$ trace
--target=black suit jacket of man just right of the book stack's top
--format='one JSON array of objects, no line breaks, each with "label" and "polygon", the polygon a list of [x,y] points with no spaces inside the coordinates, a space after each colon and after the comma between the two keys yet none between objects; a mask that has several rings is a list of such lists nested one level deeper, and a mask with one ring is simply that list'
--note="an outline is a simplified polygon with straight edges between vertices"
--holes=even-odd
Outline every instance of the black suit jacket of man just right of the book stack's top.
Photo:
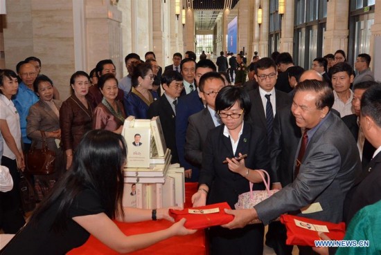
[{"label": "black suit jacket of man just right of the book stack's top", "polygon": [[172,106],[167,100],[166,95],[161,95],[159,99],[153,102],[148,108],[148,118],[152,119],[154,116],[160,117],[161,127],[163,128],[164,139],[166,145],[172,154],[172,164],[179,162],[177,155],[176,138],[175,138],[175,122],[176,115],[172,110]]}]

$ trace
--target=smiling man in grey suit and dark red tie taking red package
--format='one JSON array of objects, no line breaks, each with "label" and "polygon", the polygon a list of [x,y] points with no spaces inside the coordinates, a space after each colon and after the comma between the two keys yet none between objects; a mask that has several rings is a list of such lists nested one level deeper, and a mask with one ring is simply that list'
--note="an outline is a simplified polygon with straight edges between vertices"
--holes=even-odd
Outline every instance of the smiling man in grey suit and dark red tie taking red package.
[{"label": "smiling man in grey suit and dark red tie taking red package", "polygon": [[[225,227],[242,227],[256,218],[266,225],[286,212],[342,221],[343,201],[361,163],[355,141],[348,140],[348,128],[330,112],[333,102],[333,92],[324,82],[305,80],[296,86],[292,114],[304,132],[295,155],[294,181],[253,209],[228,210],[235,218]],[[299,251],[312,252],[310,247],[299,247]]]}]

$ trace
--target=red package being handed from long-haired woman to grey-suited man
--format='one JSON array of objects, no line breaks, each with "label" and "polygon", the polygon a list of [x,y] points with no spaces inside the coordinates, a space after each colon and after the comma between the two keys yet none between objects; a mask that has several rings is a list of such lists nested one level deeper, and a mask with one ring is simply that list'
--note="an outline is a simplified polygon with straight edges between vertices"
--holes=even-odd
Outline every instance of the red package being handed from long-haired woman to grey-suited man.
[{"label": "red package being handed from long-haired woman to grey-suited man", "polygon": [[181,220],[181,218],[186,218],[184,226],[187,229],[205,229],[206,227],[224,225],[233,220],[234,216],[226,214],[224,209],[231,209],[227,202],[183,210],[170,209],[169,215],[176,222]]}]

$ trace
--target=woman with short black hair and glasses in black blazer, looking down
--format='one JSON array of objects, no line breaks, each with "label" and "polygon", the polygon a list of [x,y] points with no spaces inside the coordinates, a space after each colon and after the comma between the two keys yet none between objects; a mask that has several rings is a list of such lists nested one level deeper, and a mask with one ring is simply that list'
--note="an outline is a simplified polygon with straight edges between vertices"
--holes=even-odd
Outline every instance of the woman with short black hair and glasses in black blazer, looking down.
[{"label": "woman with short black hair and glasses in black blazer, looking down", "polygon": [[[254,169],[269,169],[265,130],[247,122],[251,102],[244,88],[226,86],[215,98],[215,111],[222,125],[209,131],[202,151],[199,189],[193,194],[193,206],[228,202],[231,208],[238,195],[265,189],[262,178]],[[236,160],[240,155],[247,158]],[[224,164],[224,160],[227,163]],[[242,229],[211,227],[211,254],[263,254],[263,224]]]}]

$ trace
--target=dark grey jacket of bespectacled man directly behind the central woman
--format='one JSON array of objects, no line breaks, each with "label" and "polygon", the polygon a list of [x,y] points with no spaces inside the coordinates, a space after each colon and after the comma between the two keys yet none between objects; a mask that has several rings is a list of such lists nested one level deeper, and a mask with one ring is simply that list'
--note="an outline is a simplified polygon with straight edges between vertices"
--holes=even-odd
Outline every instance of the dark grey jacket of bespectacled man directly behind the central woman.
[{"label": "dark grey jacket of bespectacled man directly behind the central woman", "polygon": [[200,168],[202,163],[202,150],[209,130],[215,125],[209,109],[190,115],[188,129],[186,129],[185,159],[193,166]]}]

